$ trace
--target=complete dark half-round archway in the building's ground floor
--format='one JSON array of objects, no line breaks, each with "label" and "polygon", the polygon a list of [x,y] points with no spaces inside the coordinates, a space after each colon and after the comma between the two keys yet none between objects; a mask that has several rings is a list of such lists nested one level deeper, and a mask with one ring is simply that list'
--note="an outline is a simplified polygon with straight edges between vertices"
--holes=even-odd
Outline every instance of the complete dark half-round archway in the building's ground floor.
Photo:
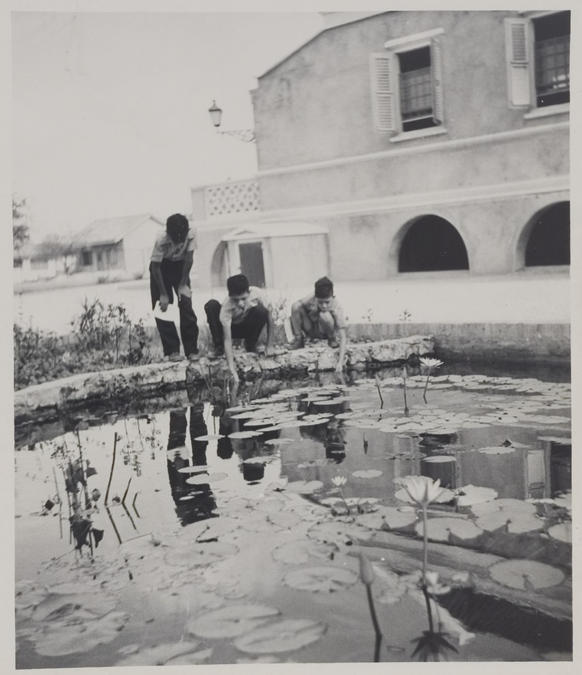
[{"label": "complete dark half-round archway in the building's ground floor", "polygon": [[469,269],[463,238],[439,216],[421,216],[404,235],[398,254],[399,272],[435,272]]}]

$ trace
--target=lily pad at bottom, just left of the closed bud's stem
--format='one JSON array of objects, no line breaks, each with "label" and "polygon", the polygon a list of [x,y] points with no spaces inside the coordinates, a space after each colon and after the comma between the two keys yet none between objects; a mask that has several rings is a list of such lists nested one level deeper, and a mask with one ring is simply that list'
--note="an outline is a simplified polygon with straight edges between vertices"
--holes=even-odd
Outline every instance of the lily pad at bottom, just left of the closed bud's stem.
[{"label": "lily pad at bottom, just left of the closed bud's stem", "polygon": [[310,619],[283,619],[241,635],[234,646],[248,654],[290,652],[317,641],[326,630],[325,624]]}]

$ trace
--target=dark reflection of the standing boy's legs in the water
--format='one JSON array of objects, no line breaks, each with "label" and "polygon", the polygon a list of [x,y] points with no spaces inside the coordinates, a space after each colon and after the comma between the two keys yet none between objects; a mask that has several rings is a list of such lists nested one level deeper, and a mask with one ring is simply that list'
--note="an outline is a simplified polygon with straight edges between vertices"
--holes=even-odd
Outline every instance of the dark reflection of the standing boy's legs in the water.
[{"label": "dark reflection of the standing boy's legs in the water", "polygon": [[[190,445],[186,447],[188,429],[188,408],[170,411],[170,432],[168,434],[168,479],[175,504],[176,515],[183,526],[212,516],[216,508],[210,484],[190,484],[188,478],[207,472],[207,441],[195,441],[207,434],[203,416],[203,404],[190,407]],[[187,467],[201,467],[200,472],[181,471]]]}]

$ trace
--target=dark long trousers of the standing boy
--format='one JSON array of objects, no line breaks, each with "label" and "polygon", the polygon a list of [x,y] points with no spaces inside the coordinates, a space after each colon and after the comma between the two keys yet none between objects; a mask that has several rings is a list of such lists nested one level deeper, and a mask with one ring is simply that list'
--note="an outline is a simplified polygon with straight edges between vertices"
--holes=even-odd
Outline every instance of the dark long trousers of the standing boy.
[{"label": "dark long trousers of the standing boy", "polygon": [[[166,293],[170,302],[173,302],[174,293],[178,296],[178,288],[182,278],[182,271],[184,270],[183,260],[162,260],[160,265],[162,271],[162,279],[166,287]],[[188,280],[188,287],[190,287],[190,280]],[[160,289],[151,273],[151,265],[149,266],[149,289],[151,293],[151,308],[155,307],[155,303],[160,299]],[[194,310],[192,309],[192,298],[182,295],[178,299],[178,309],[180,312],[180,335],[182,345],[184,345],[184,354],[198,354],[198,321]],[[180,340],[173,321],[164,321],[163,319],[155,319],[157,332],[160,333],[162,339],[162,348],[164,355],[174,354],[180,351]]]}]

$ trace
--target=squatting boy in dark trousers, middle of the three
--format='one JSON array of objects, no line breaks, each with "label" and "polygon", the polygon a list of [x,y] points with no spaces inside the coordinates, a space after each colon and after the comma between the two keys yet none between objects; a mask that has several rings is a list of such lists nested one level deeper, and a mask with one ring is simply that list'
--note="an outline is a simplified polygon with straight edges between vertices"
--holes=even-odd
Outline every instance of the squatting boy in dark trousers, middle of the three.
[{"label": "squatting boy in dark trousers, middle of the three", "polygon": [[273,354],[275,323],[264,293],[256,286],[249,286],[249,280],[244,274],[229,277],[227,289],[229,294],[222,305],[213,299],[204,306],[214,343],[214,349],[208,356],[216,358],[226,354],[232,379],[238,382],[232,351],[233,338],[244,338],[246,351],[256,352],[257,340],[266,325],[266,354],[270,356]]}]

